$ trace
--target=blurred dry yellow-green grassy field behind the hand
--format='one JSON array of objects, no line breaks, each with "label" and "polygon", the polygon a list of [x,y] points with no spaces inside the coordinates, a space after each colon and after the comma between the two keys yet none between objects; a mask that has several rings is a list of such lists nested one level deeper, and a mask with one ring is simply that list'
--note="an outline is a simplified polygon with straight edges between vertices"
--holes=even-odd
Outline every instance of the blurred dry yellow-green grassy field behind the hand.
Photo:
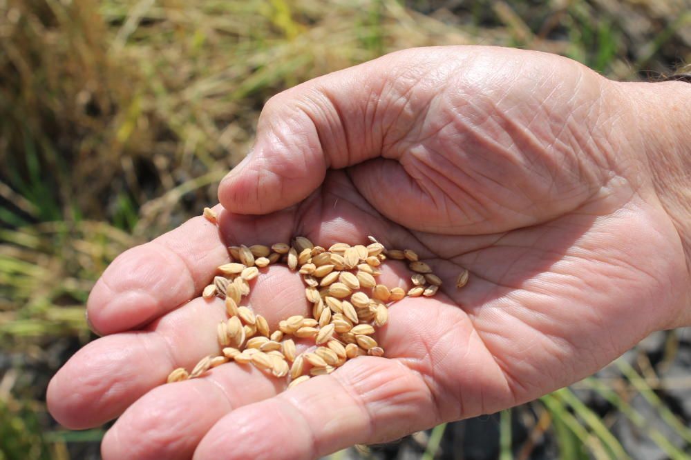
[{"label": "blurred dry yellow-green grassy field behind the hand", "polygon": [[[689,0],[0,0],[0,459],[97,459],[46,412],[117,254],[216,203],[263,103],[412,46],[555,52],[612,79],[691,62]],[[333,459],[688,459],[691,331],[501,414]]]}]

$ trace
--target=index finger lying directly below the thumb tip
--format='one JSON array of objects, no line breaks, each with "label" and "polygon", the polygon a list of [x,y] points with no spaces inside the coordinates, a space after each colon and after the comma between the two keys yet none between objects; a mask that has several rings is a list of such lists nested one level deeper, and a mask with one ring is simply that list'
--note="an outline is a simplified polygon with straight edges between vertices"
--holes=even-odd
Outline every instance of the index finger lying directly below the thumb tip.
[{"label": "index finger lying directly below the thumb tip", "polygon": [[194,217],[120,254],[89,295],[88,319],[100,334],[143,326],[195,297],[227,260],[218,228]]}]

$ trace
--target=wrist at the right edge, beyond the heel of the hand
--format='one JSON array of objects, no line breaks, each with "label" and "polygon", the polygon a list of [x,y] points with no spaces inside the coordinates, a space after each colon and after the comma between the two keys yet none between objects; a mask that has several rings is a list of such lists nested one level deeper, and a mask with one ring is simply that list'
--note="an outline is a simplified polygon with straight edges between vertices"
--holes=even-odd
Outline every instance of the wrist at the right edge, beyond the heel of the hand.
[{"label": "wrist at the right edge, beyond the heel of the hand", "polygon": [[634,101],[632,114],[642,147],[641,162],[679,235],[685,259],[685,305],[671,326],[691,326],[691,83],[623,83]]}]

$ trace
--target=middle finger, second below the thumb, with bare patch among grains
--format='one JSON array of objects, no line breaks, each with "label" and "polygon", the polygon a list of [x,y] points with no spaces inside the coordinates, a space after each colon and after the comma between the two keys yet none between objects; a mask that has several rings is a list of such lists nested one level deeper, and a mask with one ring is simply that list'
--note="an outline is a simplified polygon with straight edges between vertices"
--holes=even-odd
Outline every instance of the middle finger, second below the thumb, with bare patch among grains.
[{"label": "middle finger, second below the thumb, with bare patch among grains", "polygon": [[[292,314],[305,314],[304,287],[285,267],[253,281],[247,305],[265,315],[272,330]],[[276,292],[285,297],[276,301]],[[175,368],[190,370],[202,357],[219,354],[216,326],[225,306],[195,299],[153,323],[149,330],[102,337],[79,350],[48,386],[48,407],[68,428],[100,425],[120,415]]]}]

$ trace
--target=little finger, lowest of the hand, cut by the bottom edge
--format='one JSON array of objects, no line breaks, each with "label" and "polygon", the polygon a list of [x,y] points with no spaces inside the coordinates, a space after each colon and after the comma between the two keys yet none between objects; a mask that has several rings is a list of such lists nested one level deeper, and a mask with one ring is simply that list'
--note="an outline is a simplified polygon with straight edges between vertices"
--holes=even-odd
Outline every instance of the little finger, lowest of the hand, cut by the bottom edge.
[{"label": "little finger, lowest of the hand, cut by the bottom edge", "polygon": [[396,360],[360,357],[214,425],[195,459],[316,459],[354,443],[437,423],[422,377]]}]

